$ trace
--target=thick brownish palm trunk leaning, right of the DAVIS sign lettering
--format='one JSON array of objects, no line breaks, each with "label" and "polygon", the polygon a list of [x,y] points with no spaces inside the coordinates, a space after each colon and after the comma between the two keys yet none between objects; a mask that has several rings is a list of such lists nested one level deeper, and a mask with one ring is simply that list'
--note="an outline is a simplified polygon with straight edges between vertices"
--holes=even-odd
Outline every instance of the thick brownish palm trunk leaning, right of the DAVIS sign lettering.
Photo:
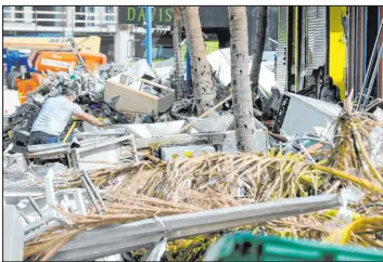
[{"label": "thick brownish palm trunk leaning, right of the DAVIS sign lettering", "polygon": [[189,42],[189,55],[193,81],[194,100],[201,115],[214,106],[216,91],[213,87],[210,66],[206,58],[202,36],[199,6],[182,6],[183,24]]}]

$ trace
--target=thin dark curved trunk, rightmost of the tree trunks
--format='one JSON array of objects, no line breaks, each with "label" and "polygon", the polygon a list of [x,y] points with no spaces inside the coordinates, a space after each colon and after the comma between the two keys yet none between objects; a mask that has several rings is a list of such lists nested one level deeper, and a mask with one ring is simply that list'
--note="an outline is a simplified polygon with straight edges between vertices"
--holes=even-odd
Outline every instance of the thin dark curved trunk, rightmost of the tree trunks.
[{"label": "thin dark curved trunk, rightmost of the tree trunks", "polygon": [[258,92],[260,63],[265,49],[266,27],[267,27],[267,6],[257,6],[255,21],[255,40],[253,52],[253,64],[251,71],[253,95]]}]

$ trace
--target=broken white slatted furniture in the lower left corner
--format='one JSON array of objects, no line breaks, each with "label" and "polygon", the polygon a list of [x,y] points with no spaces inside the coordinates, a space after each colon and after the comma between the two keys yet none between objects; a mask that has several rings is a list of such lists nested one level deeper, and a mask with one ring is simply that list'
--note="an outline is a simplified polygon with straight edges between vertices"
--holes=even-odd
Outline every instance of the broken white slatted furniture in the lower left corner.
[{"label": "broken white slatted furniture in the lower left corner", "polygon": [[[25,241],[50,226],[63,223],[55,207],[77,214],[87,213],[86,206],[91,202],[84,191],[69,188],[55,192],[53,183],[53,171],[50,169],[43,179],[43,186],[38,186],[38,191],[30,181],[11,185],[12,189],[21,189],[16,184],[25,185],[24,191],[18,192],[20,199],[14,204],[12,201],[15,199],[10,198],[12,197],[10,191],[4,192],[4,225],[7,225],[4,234],[9,236],[9,240],[4,244],[8,247],[7,251],[10,252],[7,253],[7,258],[9,256],[13,258],[9,259],[10,261],[23,260]],[[10,217],[11,220],[8,220]]]}]

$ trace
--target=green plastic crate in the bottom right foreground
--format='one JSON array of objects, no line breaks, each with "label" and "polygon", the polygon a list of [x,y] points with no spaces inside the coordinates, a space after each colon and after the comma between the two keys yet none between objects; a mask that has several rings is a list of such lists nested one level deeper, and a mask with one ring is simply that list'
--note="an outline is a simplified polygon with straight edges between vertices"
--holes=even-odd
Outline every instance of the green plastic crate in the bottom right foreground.
[{"label": "green plastic crate in the bottom right foreground", "polygon": [[354,246],[324,245],[251,232],[228,234],[218,239],[205,261],[383,261],[383,250]]}]

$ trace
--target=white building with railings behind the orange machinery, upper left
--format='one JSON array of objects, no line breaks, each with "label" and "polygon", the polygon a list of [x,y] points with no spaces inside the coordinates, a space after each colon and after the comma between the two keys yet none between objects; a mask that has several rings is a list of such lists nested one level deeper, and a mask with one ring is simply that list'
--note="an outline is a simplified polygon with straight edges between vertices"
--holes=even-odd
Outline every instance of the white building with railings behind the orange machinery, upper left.
[{"label": "white building with railings behind the orange machinery, upper left", "polygon": [[3,6],[3,36],[100,36],[101,52],[114,60],[117,6]]}]

